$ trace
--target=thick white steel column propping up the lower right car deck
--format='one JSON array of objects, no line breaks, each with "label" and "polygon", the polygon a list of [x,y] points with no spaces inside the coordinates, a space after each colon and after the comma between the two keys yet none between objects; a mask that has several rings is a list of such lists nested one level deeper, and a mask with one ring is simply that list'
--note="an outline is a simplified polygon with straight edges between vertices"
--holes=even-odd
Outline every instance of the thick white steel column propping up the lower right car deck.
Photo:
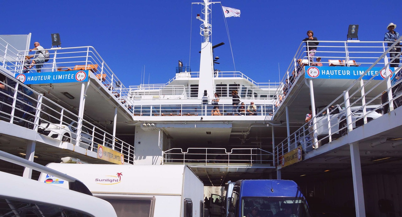
[{"label": "thick white steel column propping up the lower right car deck", "polygon": [[363,180],[361,177],[361,164],[359,154],[359,144],[349,144],[351,151],[353,192],[355,195],[356,217],[365,217]]}]

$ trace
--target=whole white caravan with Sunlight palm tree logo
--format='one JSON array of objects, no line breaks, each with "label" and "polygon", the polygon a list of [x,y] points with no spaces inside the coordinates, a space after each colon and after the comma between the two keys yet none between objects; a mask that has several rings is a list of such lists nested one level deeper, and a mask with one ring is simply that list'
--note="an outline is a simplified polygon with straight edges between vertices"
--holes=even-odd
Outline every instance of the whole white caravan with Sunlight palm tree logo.
[{"label": "whole white caravan with Sunlight palm tree logo", "polygon": [[[118,217],[203,217],[204,185],[187,165],[61,164],[47,167],[82,181]],[[54,177],[42,173],[41,182]]]}]

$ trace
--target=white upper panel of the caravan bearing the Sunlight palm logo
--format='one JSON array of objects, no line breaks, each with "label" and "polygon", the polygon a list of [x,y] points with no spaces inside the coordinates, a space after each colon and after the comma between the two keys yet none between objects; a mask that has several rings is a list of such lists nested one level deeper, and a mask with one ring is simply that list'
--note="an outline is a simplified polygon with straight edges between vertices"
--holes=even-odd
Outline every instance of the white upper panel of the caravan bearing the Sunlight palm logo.
[{"label": "white upper panel of the caravan bearing the Sunlight palm logo", "polygon": [[[50,163],[47,167],[80,177],[92,193],[181,195],[185,171],[192,172],[185,170],[187,165]],[[40,179],[45,181],[45,176]]]}]

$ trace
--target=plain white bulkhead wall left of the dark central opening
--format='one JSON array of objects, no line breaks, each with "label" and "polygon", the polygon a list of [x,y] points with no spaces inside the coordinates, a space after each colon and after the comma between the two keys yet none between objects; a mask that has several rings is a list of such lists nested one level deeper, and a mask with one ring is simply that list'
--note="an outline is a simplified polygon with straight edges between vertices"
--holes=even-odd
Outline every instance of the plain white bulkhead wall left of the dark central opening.
[{"label": "plain white bulkhead wall left of the dark central opening", "polygon": [[135,164],[160,165],[162,164],[162,147],[166,137],[162,130],[143,130],[135,127]]}]

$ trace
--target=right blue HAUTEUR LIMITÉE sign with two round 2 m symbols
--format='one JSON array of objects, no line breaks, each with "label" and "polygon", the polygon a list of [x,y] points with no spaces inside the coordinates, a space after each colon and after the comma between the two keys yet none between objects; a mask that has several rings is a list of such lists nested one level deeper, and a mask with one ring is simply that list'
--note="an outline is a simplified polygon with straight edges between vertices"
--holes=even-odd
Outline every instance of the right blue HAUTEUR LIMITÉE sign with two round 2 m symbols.
[{"label": "right blue HAUTEUR LIMIT\u00c9E sign with two round 2 m symbols", "polygon": [[[358,79],[369,67],[347,67],[347,66],[305,66],[304,76],[306,78],[320,78],[320,79]],[[373,67],[370,71],[367,71],[363,80],[369,80],[381,67]],[[388,75],[392,73],[392,69],[383,69],[378,73],[373,80],[385,79]]]}]

